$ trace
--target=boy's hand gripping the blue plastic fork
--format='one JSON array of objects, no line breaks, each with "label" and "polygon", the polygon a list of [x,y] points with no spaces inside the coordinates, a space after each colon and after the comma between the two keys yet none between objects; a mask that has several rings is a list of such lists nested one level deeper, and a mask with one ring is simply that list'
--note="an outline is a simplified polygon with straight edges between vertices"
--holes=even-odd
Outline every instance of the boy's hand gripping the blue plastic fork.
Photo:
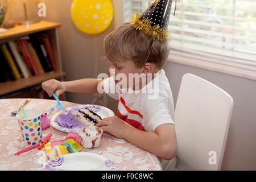
[{"label": "boy's hand gripping the blue plastic fork", "polygon": [[64,82],[51,79],[42,83],[42,88],[46,90],[49,97],[52,97],[52,93],[55,92],[56,96],[59,97],[67,89]]}]

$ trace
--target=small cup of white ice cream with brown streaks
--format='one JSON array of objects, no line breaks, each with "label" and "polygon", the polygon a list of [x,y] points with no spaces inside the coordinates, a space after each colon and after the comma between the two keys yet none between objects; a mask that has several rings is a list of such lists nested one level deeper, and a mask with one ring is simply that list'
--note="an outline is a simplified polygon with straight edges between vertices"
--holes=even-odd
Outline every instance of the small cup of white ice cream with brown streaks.
[{"label": "small cup of white ice cream with brown streaks", "polygon": [[100,146],[103,130],[97,126],[87,126],[78,131],[85,148],[96,148]]}]

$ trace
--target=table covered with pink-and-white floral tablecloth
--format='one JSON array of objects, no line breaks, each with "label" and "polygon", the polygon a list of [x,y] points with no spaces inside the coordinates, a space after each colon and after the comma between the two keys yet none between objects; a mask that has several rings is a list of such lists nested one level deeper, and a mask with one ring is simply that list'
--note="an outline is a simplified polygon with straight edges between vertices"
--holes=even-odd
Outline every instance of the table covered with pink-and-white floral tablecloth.
[{"label": "table covered with pink-and-white floral tablecloth", "polygon": [[[20,102],[26,99],[2,99],[0,100],[0,170],[35,170],[44,161],[48,160],[44,150],[31,150],[21,155],[14,155],[25,147],[19,123],[11,111],[16,110]],[[63,101],[64,107],[77,105]],[[55,100],[31,99],[26,109],[40,109],[49,112]],[[52,133],[51,141],[63,139],[67,134],[48,128],[43,131],[45,137]],[[162,170],[159,159],[150,152],[134,146],[125,139],[118,139],[109,134],[103,134],[101,145],[97,148],[83,148],[80,152],[93,152],[104,155],[112,160],[118,170]]]}]

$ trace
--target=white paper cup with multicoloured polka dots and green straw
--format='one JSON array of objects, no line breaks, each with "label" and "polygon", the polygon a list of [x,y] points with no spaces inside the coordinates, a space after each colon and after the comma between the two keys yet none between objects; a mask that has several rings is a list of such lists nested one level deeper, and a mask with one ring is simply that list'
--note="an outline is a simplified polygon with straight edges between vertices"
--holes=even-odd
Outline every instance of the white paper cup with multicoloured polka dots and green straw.
[{"label": "white paper cup with multicoloured polka dots and green straw", "polygon": [[19,127],[27,146],[34,146],[40,143],[42,139],[42,111],[38,109],[27,109],[24,112],[27,115],[27,119],[24,118],[21,112],[16,114],[16,118],[19,121]]}]

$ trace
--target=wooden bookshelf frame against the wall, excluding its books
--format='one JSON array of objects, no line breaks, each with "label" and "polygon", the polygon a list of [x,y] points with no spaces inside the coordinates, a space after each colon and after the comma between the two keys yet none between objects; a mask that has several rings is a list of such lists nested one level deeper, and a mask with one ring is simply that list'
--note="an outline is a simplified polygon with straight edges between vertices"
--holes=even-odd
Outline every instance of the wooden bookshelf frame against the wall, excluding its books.
[{"label": "wooden bookshelf frame against the wall, excluding its books", "polygon": [[[14,28],[9,28],[6,32],[0,33],[0,44],[15,41],[22,38],[23,36],[31,35],[34,33],[46,34],[49,37],[52,54],[56,60],[56,68],[54,71],[46,72],[41,75],[31,76],[28,78],[20,78],[15,81],[0,82],[0,98],[17,98],[19,96],[29,97],[30,95],[24,94],[22,90],[27,93],[33,93],[31,91],[28,92],[27,89],[32,89],[33,87],[38,88],[43,81],[53,78],[56,80],[63,80],[63,78],[66,76],[66,73],[63,72],[61,64],[59,34],[57,30],[59,27],[60,23],[40,21],[38,23],[31,24],[30,27],[19,25],[15,26]],[[31,94],[31,96],[33,97],[34,94]]]}]

